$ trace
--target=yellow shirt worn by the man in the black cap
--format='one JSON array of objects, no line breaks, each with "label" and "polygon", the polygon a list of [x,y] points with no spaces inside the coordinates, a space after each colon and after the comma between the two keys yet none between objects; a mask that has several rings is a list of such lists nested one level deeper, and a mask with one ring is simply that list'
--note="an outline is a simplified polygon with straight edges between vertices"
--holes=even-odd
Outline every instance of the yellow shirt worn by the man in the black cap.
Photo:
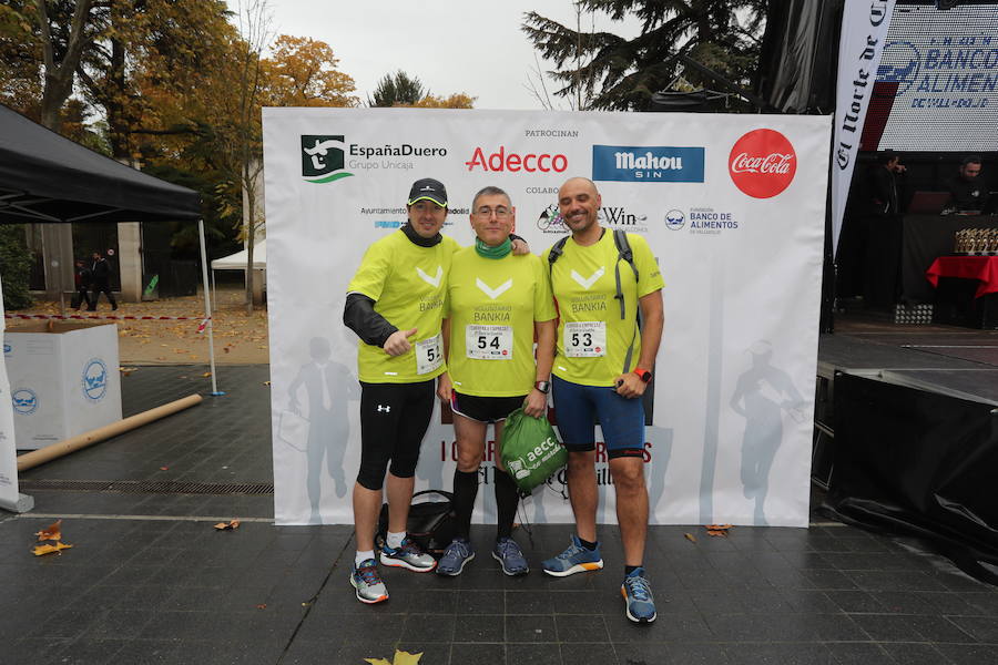
[{"label": "yellow shirt worn by the man in the black cap", "polygon": [[444,374],[440,321],[447,274],[457,248],[457,242],[447,236],[432,247],[420,247],[398,231],[364,253],[347,293],[367,296],[389,324],[417,332],[409,338],[411,350],[401,356],[389,356],[381,347],[360,341],[357,374],[361,381],[411,383]]}]

